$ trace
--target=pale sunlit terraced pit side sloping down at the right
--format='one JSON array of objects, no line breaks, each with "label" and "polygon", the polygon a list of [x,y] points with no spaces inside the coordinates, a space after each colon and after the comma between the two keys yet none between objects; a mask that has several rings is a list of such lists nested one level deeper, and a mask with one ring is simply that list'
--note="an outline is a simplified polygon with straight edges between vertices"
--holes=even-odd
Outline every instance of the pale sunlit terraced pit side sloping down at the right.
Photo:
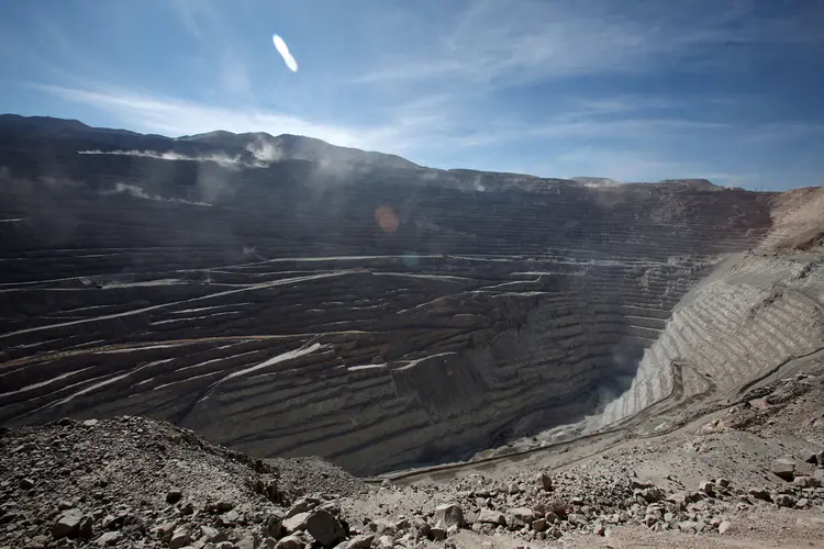
[{"label": "pale sunlit terraced pit side sloping down at the right", "polygon": [[821,188],[781,197],[773,232],[755,251],[724,260],[681,300],[646,349],[631,388],[595,426],[634,416],[676,385],[682,401],[728,402],[824,351],[823,205]]}]

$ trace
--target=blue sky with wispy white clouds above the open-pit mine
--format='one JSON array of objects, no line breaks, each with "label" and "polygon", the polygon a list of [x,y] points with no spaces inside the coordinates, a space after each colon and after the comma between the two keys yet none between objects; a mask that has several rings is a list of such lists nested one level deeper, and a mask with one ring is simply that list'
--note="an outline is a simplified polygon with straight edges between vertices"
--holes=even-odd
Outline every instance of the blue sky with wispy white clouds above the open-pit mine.
[{"label": "blue sky with wispy white clouds above the open-pit mine", "polygon": [[824,183],[819,0],[11,1],[0,35],[4,112],[438,168]]}]

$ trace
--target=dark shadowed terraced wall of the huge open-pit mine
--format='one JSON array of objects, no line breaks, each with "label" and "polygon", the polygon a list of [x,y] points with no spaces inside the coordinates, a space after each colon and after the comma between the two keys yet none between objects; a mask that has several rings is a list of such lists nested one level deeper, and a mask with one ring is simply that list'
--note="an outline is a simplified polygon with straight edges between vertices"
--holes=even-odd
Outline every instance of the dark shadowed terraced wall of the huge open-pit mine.
[{"label": "dark shadowed terraced wall of the huge open-pit mine", "polygon": [[626,391],[665,391],[635,379],[639,366],[668,359],[673,309],[761,240],[773,200],[47,142],[12,153],[0,154],[0,422],[141,414],[359,474],[465,458]]}]

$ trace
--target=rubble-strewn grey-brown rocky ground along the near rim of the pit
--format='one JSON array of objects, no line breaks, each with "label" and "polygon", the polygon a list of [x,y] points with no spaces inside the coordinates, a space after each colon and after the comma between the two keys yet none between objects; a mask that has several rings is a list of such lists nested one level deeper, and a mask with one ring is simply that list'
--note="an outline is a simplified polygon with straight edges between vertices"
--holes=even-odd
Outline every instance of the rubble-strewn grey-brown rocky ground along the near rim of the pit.
[{"label": "rubble-strewn grey-brown rocky ground along the near rim of the pit", "polygon": [[141,417],[14,427],[0,547],[816,547],[824,362],[810,371],[655,440],[371,488]]}]

